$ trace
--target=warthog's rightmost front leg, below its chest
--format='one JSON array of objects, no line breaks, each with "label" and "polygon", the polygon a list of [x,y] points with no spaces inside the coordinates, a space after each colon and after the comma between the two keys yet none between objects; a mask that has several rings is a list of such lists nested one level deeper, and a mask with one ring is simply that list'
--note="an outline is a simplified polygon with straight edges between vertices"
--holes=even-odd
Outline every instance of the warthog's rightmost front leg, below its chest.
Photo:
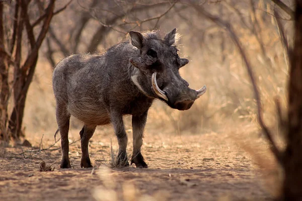
[{"label": "warthog's rightmost front leg, below its chest", "polygon": [[147,168],[148,165],[140,153],[142,145],[143,130],[147,121],[147,112],[141,116],[132,116],[132,130],[133,130],[133,152],[131,157],[131,164],[134,163],[136,168]]}]

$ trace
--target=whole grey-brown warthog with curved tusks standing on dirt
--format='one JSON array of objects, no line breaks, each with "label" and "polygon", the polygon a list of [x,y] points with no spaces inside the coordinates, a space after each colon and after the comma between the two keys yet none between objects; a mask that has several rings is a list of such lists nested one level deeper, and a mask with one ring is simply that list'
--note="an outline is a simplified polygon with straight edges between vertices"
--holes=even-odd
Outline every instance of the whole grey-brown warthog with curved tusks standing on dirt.
[{"label": "whole grey-brown warthog with curved tusks standing on dirt", "polygon": [[[112,123],[117,136],[118,157],[127,161],[128,137],[123,115],[132,115],[131,164],[147,168],[141,153],[148,109],[155,98],[171,108],[188,110],[206,87],[199,90],[179,74],[189,60],[180,58],[174,45],[176,29],[165,37],[156,31],[130,31],[130,37],[102,55],[72,55],[60,61],[52,77],[56,119],[61,135],[61,168],[70,168],[69,118],[84,122],[81,136],[81,167],[92,167],[88,144],[98,125]],[[126,166],[128,162],[124,163]]]}]

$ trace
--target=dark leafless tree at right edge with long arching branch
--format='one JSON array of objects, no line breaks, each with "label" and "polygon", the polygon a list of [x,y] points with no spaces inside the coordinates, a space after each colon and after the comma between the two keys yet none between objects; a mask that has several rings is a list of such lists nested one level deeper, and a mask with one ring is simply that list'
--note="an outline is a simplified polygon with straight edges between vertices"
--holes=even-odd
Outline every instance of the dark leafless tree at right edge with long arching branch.
[{"label": "dark leafless tree at right edge with long arching branch", "polygon": [[273,140],[272,132],[266,126],[262,117],[262,104],[259,94],[255,75],[253,73],[252,66],[250,65],[247,54],[240,43],[239,37],[234,31],[232,25],[228,22],[221,20],[217,16],[213,16],[206,12],[201,6],[193,4],[193,7],[197,12],[214,22],[218,26],[226,29],[230,34],[230,37],[239,49],[239,52],[246,64],[248,74],[251,78],[253,89],[255,92],[255,98],[258,108],[258,121],[263,130],[263,133],[269,141],[270,148],[278,163],[284,170],[283,191],[281,193],[280,200],[301,200],[302,199],[302,158],[300,153],[302,152],[302,1],[295,1],[295,11],[292,11],[289,7],[283,4],[281,1],[273,1],[282,10],[284,10],[292,20],[294,20],[294,44],[293,49],[289,48],[286,36],[284,34],[282,24],[279,21],[279,15],[275,12],[277,19],[277,25],[280,31],[280,37],[288,58],[290,60],[289,70],[289,83],[288,83],[288,109],[286,111],[287,118],[284,119],[278,99],[276,99],[277,113],[279,117],[279,123],[285,131],[285,150],[280,150]]}]

